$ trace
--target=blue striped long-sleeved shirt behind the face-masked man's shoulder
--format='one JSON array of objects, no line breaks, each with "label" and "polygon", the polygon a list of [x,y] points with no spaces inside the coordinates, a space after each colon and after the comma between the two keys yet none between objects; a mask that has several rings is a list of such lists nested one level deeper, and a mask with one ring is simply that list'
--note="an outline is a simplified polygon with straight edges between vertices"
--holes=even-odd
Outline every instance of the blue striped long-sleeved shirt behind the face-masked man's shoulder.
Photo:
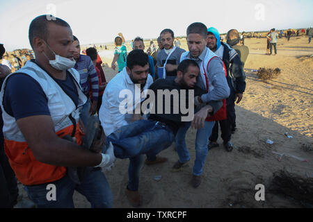
[{"label": "blue striped long-sleeved shirt behind the face-masked man's shoulder", "polygon": [[91,83],[91,92],[93,93],[93,101],[98,101],[99,83],[98,75],[89,56],[80,55],[79,60],[76,62],[74,69],[79,72],[81,77],[80,84],[83,93],[89,98],[89,81]]}]

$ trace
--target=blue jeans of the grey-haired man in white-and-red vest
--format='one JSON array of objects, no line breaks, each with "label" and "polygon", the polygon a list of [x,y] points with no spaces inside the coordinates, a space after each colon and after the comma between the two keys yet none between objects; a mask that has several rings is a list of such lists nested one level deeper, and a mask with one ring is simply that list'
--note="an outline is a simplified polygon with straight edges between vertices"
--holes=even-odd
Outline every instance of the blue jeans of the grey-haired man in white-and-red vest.
[{"label": "blue jeans of the grey-haired man in white-and-red vest", "polygon": [[[214,127],[215,121],[205,121],[204,128],[197,130],[197,135],[195,138],[195,164],[193,166],[193,174],[195,176],[200,176],[203,171],[203,166],[205,159],[207,157],[207,145],[209,137],[212,133],[212,128]],[[186,146],[186,133],[188,128],[191,126],[190,122],[185,123],[184,128],[179,128],[176,135],[176,150],[179,157],[179,162],[185,163],[190,160],[190,155]]]}]

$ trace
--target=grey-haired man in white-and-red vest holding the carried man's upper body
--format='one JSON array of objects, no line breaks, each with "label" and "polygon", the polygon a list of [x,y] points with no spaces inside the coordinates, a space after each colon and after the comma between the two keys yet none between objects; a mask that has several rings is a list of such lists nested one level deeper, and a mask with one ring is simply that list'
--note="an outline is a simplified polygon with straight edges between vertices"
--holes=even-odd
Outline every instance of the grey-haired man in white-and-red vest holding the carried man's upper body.
[{"label": "grey-haired man in white-and-red vest holding the carried man's upper body", "polygon": [[[211,135],[215,121],[226,118],[225,99],[230,96],[230,87],[225,78],[226,72],[223,61],[207,48],[207,26],[200,22],[195,22],[188,26],[187,31],[188,52],[182,54],[181,61],[185,59],[195,60],[200,67],[201,74],[198,76],[197,85],[207,93],[195,97],[195,104],[206,104],[209,101],[223,101],[223,107],[204,121],[204,127],[197,130],[195,139],[195,164],[193,166],[193,177],[191,184],[199,187],[201,174],[205,159],[207,157],[208,138]],[[191,157],[186,147],[186,133],[190,124],[185,124],[184,128],[179,128],[176,136],[176,150],[179,160],[172,167],[179,171]]]}]

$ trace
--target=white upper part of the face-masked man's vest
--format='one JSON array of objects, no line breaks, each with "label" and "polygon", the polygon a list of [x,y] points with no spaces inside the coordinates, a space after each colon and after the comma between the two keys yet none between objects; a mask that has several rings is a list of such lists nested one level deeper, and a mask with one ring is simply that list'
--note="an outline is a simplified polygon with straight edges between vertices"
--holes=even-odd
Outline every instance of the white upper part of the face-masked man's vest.
[{"label": "white upper part of the face-masked man's vest", "polygon": [[[74,78],[74,84],[77,87],[77,92],[79,93],[79,104],[78,107],[81,107],[84,103],[86,103],[87,98],[81,91],[81,87],[79,85],[79,74],[75,69],[68,69],[70,74]],[[48,107],[51,115],[51,119],[54,122],[54,130],[58,132],[67,126],[73,124],[70,115],[75,119],[76,123],[79,120],[79,109],[77,109],[76,105],[68,96],[65,94],[63,89],[56,83],[56,81],[49,76],[43,69],[38,67],[34,62],[26,62],[26,65],[19,69],[18,73],[27,74],[31,76],[34,80],[36,80],[40,87],[42,87],[43,92],[48,99]],[[6,139],[15,140],[18,142],[25,142],[24,136],[20,132],[17,127],[17,123],[14,117],[11,117],[6,110],[3,109],[3,95],[6,89],[6,83],[8,78],[14,74],[10,74],[3,81],[1,93],[0,93],[0,105],[3,110],[3,136]]]}]

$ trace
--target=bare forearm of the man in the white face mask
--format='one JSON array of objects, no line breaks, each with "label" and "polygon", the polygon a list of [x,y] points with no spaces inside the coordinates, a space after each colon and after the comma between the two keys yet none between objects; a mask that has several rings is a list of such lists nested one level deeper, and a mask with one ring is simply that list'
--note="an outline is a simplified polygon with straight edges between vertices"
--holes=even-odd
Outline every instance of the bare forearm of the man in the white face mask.
[{"label": "bare forearm of the man in the white face mask", "polygon": [[63,167],[93,167],[102,160],[101,154],[84,150],[71,142],[72,139],[58,137],[54,122],[48,115],[18,119],[17,126],[39,162]]}]

